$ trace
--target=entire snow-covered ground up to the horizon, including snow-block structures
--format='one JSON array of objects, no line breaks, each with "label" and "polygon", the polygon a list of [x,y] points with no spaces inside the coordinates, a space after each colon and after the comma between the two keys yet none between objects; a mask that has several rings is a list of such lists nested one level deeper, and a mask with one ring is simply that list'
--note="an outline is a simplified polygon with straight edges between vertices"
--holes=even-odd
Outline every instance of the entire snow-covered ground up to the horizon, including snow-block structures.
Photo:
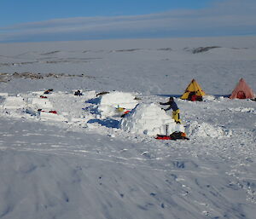
[{"label": "entire snow-covered ground up to the horizon, including snow-block structures", "polygon": [[[256,90],[255,45],[0,44],[0,218],[255,218],[256,101],[227,98]],[[203,101],[178,98],[192,78]],[[189,140],[154,139],[174,130]]]}]

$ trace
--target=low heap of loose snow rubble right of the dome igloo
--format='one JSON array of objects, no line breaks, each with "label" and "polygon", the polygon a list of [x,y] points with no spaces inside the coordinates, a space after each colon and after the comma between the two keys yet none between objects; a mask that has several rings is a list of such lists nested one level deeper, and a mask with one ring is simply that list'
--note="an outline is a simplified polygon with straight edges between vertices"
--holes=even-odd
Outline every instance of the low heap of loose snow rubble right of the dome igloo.
[{"label": "low heap of loose snow rubble right of the dome igloo", "polygon": [[187,125],[186,133],[189,137],[212,137],[212,138],[221,138],[226,135],[225,131],[221,127],[214,127],[211,124],[193,122],[192,124]]}]

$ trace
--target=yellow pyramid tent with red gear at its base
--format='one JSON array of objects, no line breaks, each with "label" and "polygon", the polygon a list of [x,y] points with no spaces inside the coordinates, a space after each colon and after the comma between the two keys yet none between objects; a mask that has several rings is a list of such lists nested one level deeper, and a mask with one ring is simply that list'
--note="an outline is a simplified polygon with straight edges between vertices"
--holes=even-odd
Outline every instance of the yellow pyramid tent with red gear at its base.
[{"label": "yellow pyramid tent with red gear at its base", "polygon": [[181,96],[181,99],[188,101],[201,101],[201,97],[206,93],[201,89],[201,86],[193,79],[185,92]]}]

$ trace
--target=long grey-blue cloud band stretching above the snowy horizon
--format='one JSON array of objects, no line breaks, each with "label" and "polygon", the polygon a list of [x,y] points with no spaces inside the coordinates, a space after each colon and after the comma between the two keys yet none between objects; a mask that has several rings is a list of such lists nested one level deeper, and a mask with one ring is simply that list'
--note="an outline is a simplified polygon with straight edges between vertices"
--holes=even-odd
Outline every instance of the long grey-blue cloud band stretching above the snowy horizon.
[{"label": "long grey-blue cloud band stretching above the snowy horizon", "polygon": [[219,0],[207,9],[46,20],[0,28],[0,42],[255,34],[255,11],[254,0]]}]

